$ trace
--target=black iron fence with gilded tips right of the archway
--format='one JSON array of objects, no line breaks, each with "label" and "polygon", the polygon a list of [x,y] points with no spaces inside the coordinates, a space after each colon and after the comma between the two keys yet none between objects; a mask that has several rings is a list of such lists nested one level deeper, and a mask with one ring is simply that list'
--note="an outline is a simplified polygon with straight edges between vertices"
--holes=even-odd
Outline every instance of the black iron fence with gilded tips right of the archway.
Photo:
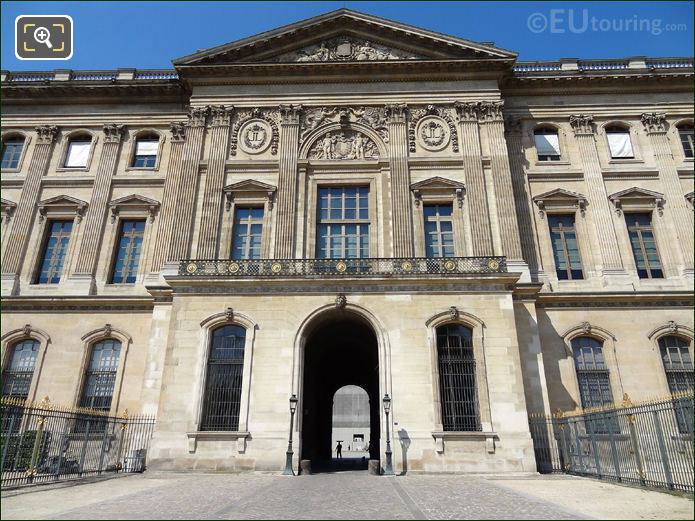
[{"label": "black iron fence with gilded tips right of the archway", "polygon": [[541,473],[693,492],[693,391],[634,405],[531,415]]}]

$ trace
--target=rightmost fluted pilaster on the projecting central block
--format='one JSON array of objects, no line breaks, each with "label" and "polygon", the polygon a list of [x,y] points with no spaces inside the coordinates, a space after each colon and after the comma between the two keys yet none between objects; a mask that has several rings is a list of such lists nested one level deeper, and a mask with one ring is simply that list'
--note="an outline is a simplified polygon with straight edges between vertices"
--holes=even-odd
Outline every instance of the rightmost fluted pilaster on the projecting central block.
[{"label": "rightmost fluted pilaster on the projecting central block", "polygon": [[487,126],[502,254],[510,261],[521,261],[523,256],[521,254],[519,226],[516,222],[516,208],[514,207],[514,200],[509,197],[514,192],[507,156],[507,142],[504,140],[502,105],[502,101],[482,103],[479,117],[480,121]]}]

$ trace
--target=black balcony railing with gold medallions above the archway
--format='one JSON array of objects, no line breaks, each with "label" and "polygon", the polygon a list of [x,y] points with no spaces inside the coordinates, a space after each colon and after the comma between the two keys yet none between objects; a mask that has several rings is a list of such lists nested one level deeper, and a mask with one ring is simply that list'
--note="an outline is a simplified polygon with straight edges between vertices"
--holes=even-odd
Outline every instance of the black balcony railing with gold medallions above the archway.
[{"label": "black balcony railing with gold medallions above the archway", "polygon": [[188,277],[418,276],[505,273],[505,257],[182,260]]}]

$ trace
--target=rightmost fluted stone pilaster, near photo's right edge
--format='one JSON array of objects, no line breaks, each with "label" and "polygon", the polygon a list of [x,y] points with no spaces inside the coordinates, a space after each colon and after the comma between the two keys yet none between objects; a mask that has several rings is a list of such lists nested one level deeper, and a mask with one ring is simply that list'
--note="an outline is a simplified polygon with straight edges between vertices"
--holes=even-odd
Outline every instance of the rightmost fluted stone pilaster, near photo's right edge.
[{"label": "rightmost fluted stone pilaster, near photo's right edge", "polygon": [[654,150],[659,167],[659,178],[666,196],[664,216],[671,219],[671,228],[676,231],[678,246],[683,254],[686,271],[693,271],[693,217],[685,199],[678,169],[666,135],[665,114],[642,114],[642,124]]}]

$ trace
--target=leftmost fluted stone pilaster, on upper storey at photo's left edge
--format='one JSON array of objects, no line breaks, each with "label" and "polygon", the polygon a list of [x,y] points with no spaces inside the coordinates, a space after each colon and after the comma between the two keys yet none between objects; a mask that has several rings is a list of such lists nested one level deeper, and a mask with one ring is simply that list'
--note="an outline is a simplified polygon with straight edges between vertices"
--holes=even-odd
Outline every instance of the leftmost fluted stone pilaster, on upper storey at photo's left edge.
[{"label": "leftmost fluted stone pilaster, on upper storey at photo's left edge", "polygon": [[7,247],[2,260],[3,275],[19,275],[20,266],[29,241],[31,226],[36,215],[36,203],[41,193],[41,179],[46,175],[51,159],[53,143],[58,127],[36,127],[36,145],[31,156],[22,194],[19,196],[17,210],[7,236]]}]

